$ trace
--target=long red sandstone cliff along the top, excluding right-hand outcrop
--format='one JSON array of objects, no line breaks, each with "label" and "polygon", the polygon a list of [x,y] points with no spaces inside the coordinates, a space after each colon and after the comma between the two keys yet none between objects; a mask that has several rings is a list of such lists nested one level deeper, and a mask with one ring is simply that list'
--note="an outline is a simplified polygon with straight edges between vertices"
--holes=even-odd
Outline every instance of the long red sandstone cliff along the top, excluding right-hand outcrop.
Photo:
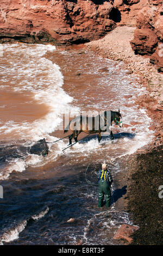
[{"label": "long red sandstone cliff along the top, excluding right-hand outcrop", "polygon": [[80,43],[135,25],[146,0],[1,0],[0,42]]}]

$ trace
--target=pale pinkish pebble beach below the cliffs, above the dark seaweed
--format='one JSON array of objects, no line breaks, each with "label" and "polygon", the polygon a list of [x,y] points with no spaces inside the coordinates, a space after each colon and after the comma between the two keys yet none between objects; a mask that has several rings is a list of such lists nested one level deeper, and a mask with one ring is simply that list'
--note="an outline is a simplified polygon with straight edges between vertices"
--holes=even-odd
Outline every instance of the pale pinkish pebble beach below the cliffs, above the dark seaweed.
[{"label": "pale pinkish pebble beach below the cliffs, above the dark seaweed", "polygon": [[103,39],[86,43],[85,47],[104,58],[122,61],[124,68],[128,69],[130,74],[135,74],[139,78],[137,82],[147,88],[147,92],[140,96],[136,103],[145,107],[149,116],[154,119],[155,123],[150,129],[155,131],[153,144],[157,145],[161,144],[163,139],[163,74],[154,68],[149,58],[135,55],[130,45],[134,31],[135,27],[117,27]]}]

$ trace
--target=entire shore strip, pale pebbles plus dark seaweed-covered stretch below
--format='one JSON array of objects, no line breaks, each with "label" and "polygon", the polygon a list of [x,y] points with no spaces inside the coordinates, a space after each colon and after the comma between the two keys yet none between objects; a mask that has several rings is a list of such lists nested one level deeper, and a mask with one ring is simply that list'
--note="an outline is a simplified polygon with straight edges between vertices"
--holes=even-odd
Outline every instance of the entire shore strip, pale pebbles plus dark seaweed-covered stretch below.
[{"label": "entire shore strip, pale pebbles plus dark seaweed-covered stretch below", "polygon": [[136,151],[131,156],[125,180],[128,192],[124,204],[130,212],[134,225],[139,225],[133,237],[133,245],[161,245],[162,199],[159,186],[162,180],[162,110],[163,75],[158,73],[149,58],[135,55],[130,40],[134,37],[135,27],[117,27],[103,39],[85,44],[87,50],[99,56],[123,61],[130,74],[139,77],[139,83],[147,88],[147,93],[138,97],[135,103],[148,110],[154,120],[150,127],[154,133],[150,145]]}]

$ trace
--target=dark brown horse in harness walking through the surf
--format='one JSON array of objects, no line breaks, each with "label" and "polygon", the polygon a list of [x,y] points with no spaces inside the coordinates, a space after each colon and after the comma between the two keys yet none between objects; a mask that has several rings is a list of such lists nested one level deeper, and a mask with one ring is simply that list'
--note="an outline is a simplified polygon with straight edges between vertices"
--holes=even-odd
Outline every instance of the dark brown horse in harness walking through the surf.
[{"label": "dark brown horse in harness walking through the surf", "polygon": [[70,123],[66,126],[64,133],[69,129],[72,134],[68,136],[70,145],[72,144],[72,138],[75,142],[78,142],[78,135],[80,132],[85,132],[88,134],[98,133],[98,141],[101,141],[101,133],[109,131],[111,139],[114,139],[112,131],[109,130],[109,126],[112,125],[112,121],[119,127],[122,127],[122,117],[120,114],[120,109],[116,111],[104,111],[102,114],[98,114],[96,117],[89,117],[87,115],[79,115],[78,117],[72,119]]}]

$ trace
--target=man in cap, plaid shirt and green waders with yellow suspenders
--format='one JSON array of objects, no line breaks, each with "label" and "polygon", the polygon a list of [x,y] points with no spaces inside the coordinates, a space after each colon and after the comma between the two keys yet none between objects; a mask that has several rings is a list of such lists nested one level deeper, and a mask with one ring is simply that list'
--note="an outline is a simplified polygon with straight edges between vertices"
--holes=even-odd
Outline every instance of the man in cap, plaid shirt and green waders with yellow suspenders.
[{"label": "man in cap, plaid shirt and green waders with yellow suspenders", "polygon": [[102,164],[102,170],[99,170],[99,180],[98,180],[98,207],[104,205],[104,195],[106,200],[106,208],[109,208],[111,201],[111,187],[112,176],[107,169],[105,163]]}]

